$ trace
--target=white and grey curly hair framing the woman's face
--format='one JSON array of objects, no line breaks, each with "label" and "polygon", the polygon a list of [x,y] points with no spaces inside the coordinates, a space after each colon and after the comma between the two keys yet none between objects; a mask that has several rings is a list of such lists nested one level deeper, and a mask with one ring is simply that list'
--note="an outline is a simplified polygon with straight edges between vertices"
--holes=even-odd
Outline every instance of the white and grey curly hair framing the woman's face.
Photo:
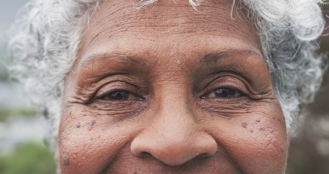
[{"label": "white and grey curly hair framing the woman's face", "polygon": [[[49,140],[58,133],[63,79],[75,60],[80,34],[103,1],[32,0],[11,29],[11,76],[23,83],[35,104],[45,109],[51,123]],[[142,8],[157,1],[141,0],[132,5]],[[202,1],[189,0],[196,10]],[[322,80],[323,60],[315,52],[325,25],[322,3],[232,0],[233,5],[246,9],[256,26],[289,133],[295,130],[301,106],[314,100]]]}]

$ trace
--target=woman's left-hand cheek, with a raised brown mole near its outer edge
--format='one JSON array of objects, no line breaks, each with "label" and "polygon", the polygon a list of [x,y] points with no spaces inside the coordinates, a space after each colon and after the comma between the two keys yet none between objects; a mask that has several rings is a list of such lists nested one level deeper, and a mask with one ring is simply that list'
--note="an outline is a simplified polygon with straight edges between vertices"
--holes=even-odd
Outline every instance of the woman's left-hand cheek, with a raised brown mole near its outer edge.
[{"label": "woman's left-hand cheek, with a raised brown mole near its outer edge", "polygon": [[59,134],[63,173],[102,172],[134,136],[128,133],[134,128],[130,120],[109,124],[109,116],[82,107],[64,114]]}]

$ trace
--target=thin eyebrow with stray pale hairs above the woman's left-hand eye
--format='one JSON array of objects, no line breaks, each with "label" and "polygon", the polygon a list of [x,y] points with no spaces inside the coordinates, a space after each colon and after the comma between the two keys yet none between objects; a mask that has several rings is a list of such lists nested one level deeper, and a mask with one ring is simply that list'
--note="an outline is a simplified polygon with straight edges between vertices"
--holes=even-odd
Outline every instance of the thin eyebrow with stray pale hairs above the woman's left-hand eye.
[{"label": "thin eyebrow with stray pale hairs above the woman's left-hand eye", "polygon": [[93,70],[93,64],[95,60],[98,59],[114,59],[114,61],[118,61],[122,64],[133,64],[133,65],[139,65],[146,67],[147,64],[144,59],[135,57],[135,56],[128,56],[125,54],[118,54],[118,53],[93,53],[89,55],[85,60],[83,60],[80,64],[80,67],[87,67],[87,64],[90,64],[92,62],[92,69]]}]

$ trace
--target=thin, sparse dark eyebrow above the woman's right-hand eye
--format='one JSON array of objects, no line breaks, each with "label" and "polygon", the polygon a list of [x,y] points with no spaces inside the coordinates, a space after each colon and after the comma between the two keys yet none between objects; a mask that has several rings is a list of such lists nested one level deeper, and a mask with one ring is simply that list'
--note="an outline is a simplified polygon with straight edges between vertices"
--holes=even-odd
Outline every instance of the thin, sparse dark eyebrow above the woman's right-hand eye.
[{"label": "thin, sparse dark eyebrow above the woman's right-hand eye", "polygon": [[243,54],[252,54],[255,57],[259,58],[264,63],[266,63],[263,56],[261,56],[256,51],[253,51],[251,49],[242,49],[242,50],[228,49],[228,50],[223,51],[223,52],[209,53],[209,54],[206,54],[206,55],[203,56],[201,62],[205,63],[205,64],[210,64],[210,63],[217,62],[220,59],[225,58],[225,57],[231,57],[231,56],[234,56],[234,55],[243,55]]}]

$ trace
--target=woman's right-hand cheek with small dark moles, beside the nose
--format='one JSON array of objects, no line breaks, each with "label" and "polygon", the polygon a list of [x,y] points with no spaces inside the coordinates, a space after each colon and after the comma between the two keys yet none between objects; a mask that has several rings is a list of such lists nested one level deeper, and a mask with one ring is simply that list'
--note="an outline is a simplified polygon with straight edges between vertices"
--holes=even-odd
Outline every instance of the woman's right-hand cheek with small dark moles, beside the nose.
[{"label": "woman's right-hand cheek with small dark moles, beside the nose", "polygon": [[214,117],[212,133],[242,171],[284,173],[288,149],[284,117],[280,107],[263,106],[230,114],[230,119]]}]

